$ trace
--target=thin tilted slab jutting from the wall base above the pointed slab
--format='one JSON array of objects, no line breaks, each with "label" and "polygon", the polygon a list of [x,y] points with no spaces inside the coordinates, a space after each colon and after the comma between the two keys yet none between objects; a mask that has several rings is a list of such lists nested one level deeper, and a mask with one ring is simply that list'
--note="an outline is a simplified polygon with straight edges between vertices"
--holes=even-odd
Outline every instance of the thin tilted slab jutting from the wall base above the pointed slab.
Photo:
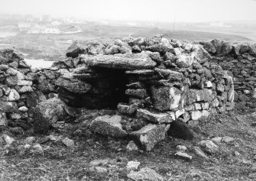
[{"label": "thin tilted slab jutting from the wall base above the pointed slab", "polygon": [[173,119],[167,113],[149,112],[142,108],[137,110],[137,117],[154,123],[170,123],[173,121]]}]

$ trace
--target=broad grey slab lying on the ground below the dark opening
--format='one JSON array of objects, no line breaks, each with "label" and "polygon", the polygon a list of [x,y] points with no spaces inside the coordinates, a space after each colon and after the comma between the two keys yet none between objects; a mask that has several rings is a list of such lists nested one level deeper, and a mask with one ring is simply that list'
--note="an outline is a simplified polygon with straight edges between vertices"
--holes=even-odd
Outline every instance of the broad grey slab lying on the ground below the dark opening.
[{"label": "broad grey slab lying on the ground below the dark opening", "polygon": [[111,137],[126,137],[127,133],[122,129],[122,117],[120,115],[103,115],[95,118],[90,124],[90,131]]}]

